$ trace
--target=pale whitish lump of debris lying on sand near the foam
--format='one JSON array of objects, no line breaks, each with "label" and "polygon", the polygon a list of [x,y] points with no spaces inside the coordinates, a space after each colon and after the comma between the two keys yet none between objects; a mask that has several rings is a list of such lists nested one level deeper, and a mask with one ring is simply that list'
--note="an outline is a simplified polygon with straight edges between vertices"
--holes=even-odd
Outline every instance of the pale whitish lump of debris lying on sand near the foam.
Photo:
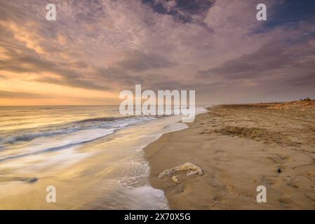
[{"label": "pale whitish lump of debris lying on sand near the foam", "polygon": [[179,165],[177,167],[164,170],[163,172],[161,172],[161,174],[159,174],[159,178],[163,179],[164,177],[171,177],[171,179],[175,183],[178,184],[178,183],[180,183],[180,181],[178,181],[177,175],[175,175],[175,174],[176,174],[176,172],[181,172],[181,171],[187,171],[186,176],[194,176],[196,174],[201,176],[203,174],[200,167],[198,167],[197,165],[194,165],[190,162],[186,162],[186,163]]}]

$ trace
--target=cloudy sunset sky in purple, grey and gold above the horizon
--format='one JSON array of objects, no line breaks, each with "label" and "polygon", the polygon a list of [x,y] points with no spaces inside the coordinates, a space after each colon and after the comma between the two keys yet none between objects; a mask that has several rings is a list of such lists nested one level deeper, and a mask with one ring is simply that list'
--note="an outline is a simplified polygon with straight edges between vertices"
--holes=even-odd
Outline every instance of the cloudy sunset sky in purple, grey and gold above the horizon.
[{"label": "cloudy sunset sky in purple, grey and gold above the horizon", "polygon": [[315,98],[314,25],[312,0],[0,0],[0,106],[119,104],[136,84],[197,104]]}]

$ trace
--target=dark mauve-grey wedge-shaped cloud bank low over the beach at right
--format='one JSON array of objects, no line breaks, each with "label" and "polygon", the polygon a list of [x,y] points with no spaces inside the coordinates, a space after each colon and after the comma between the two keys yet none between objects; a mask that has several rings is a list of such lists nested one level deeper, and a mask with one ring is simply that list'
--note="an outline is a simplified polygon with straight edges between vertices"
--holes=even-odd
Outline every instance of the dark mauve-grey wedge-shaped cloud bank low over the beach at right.
[{"label": "dark mauve-grey wedge-shaped cloud bank low over the beach at right", "polygon": [[[310,50],[310,48],[313,48],[313,50]],[[229,60],[220,66],[198,71],[196,77],[219,77],[227,80],[227,82],[272,77],[272,82],[279,78],[277,81],[282,83],[284,81],[283,74],[286,74],[291,84],[295,81],[298,84],[302,77],[310,76],[310,72],[314,74],[312,71],[315,70],[315,64],[309,61],[311,57],[315,59],[314,45],[269,43],[251,54]],[[295,78],[291,78],[292,76],[295,76]],[[296,76],[299,76],[299,78],[296,78]],[[305,80],[314,81],[314,78],[306,78]]]}]

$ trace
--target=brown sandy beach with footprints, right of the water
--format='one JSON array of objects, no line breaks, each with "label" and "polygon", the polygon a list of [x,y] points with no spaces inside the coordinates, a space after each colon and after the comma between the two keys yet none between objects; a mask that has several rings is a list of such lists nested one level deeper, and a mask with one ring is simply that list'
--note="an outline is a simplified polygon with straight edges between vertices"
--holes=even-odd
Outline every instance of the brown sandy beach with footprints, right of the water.
[{"label": "brown sandy beach with footprints, right of the water", "polygon": [[[214,106],[145,148],[170,209],[315,209],[315,102]],[[202,176],[159,179],[192,162]],[[267,188],[258,203],[257,186]]]}]

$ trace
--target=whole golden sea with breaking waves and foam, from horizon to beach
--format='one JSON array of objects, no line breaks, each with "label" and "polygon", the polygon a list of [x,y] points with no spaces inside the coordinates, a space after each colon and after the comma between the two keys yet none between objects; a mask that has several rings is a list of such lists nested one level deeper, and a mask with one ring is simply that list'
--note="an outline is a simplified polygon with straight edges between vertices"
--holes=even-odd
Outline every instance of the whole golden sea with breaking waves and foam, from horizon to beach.
[{"label": "whole golden sea with breaking waves and foam, from horizon to beach", "polygon": [[0,106],[0,209],[168,209],[143,148],[187,128],[181,118],[121,116],[116,105]]}]

